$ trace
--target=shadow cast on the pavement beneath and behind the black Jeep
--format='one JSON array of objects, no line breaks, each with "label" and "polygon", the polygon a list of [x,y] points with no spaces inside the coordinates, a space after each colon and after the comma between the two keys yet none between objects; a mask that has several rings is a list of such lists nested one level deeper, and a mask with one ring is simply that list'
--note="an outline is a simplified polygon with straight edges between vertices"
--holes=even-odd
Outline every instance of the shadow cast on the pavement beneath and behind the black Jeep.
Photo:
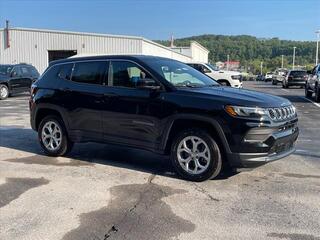
[{"label": "shadow cast on the pavement beneath and behind the black Jeep", "polygon": [[[23,162],[27,164],[45,164],[54,166],[66,165],[57,164],[57,159],[55,157],[48,157],[44,154],[38,143],[37,133],[32,129],[18,128],[17,126],[1,127],[0,147],[24,151],[35,155],[28,157],[23,161],[19,159],[10,159],[10,162]],[[35,157],[37,158],[36,160],[33,159]],[[155,154],[140,149],[114,146],[110,144],[81,143],[75,144],[72,151],[66,157],[73,160],[83,161],[88,164],[103,164],[181,179],[180,176],[175,173],[168,156]],[[5,161],[7,161],[7,159]],[[43,161],[43,163],[41,161]],[[77,166],[77,164],[67,165]],[[81,166],[83,164],[78,165]],[[219,176],[218,179],[227,179],[235,174],[237,174],[237,172],[225,171],[221,176]]]}]

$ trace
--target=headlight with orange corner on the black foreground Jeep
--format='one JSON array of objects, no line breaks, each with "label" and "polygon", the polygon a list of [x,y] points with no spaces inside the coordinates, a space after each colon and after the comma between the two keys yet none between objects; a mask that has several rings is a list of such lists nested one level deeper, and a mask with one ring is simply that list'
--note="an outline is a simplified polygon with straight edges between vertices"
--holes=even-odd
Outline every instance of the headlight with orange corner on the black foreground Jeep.
[{"label": "headlight with orange corner on the black foreground Jeep", "polygon": [[268,111],[263,108],[258,107],[239,107],[239,106],[226,106],[226,112],[232,117],[244,117],[244,118],[253,118],[260,119],[262,117],[268,118]]}]

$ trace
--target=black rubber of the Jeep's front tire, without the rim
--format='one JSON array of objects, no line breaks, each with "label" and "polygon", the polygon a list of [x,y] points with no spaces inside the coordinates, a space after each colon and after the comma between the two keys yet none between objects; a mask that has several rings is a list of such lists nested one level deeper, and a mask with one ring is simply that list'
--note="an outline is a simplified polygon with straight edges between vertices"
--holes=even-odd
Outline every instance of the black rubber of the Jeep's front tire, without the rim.
[{"label": "black rubber of the Jeep's front tire, without the rim", "polygon": [[[211,161],[206,171],[201,174],[190,174],[186,172],[181,166],[177,158],[177,148],[182,139],[187,136],[196,136],[200,137],[203,141],[206,142],[210,149]],[[212,161],[214,159],[214,161]],[[171,162],[177,173],[184,179],[201,182],[208,179],[215,178],[219,175],[222,169],[222,158],[221,151],[218,146],[218,143],[202,129],[188,129],[180,132],[176,138],[173,140],[171,148]]]}]

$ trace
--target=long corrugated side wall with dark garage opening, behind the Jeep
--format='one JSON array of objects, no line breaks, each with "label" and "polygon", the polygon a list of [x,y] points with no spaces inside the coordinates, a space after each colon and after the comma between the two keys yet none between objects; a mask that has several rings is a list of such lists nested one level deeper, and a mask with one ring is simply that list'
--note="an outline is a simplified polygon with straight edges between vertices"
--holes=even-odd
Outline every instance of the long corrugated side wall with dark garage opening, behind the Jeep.
[{"label": "long corrugated side wall with dark garage opening, behind the Jeep", "polygon": [[[1,39],[3,41],[3,32]],[[1,44],[0,63],[26,62],[39,72],[48,66],[48,50],[76,50],[78,54],[141,54],[139,38],[10,29],[10,48]]]}]

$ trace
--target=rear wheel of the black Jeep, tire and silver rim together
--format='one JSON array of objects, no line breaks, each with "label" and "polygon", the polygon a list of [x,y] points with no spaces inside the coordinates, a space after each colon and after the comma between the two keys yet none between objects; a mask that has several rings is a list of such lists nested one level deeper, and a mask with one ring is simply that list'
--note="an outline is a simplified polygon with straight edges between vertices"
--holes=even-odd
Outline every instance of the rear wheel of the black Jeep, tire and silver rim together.
[{"label": "rear wheel of the black Jeep, tire and silver rim together", "polygon": [[[50,131],[48,131],[48,128],[51,128],[52,130],[52,128],[54,128],[53,126],[57,127],[55,128],[55,130],[59,130],[54,135],[52,135]],[[46,135],[50,135],[51,137],[45,138],[45,133]],[[52,136],[55,136],[56,139],[60,139],[60,141],[51,140]],[[73,147],[73,143],[69,140],[67,136],[67,131],[65,129],[63,121],[55,115],[49,115],[42,119],[38,128],[38,139],[44,152],[47,155],[53,157],[66,155],[68,152],[71,151]],[[49,140],[52,141],[52,145],[49,144]]]}]

